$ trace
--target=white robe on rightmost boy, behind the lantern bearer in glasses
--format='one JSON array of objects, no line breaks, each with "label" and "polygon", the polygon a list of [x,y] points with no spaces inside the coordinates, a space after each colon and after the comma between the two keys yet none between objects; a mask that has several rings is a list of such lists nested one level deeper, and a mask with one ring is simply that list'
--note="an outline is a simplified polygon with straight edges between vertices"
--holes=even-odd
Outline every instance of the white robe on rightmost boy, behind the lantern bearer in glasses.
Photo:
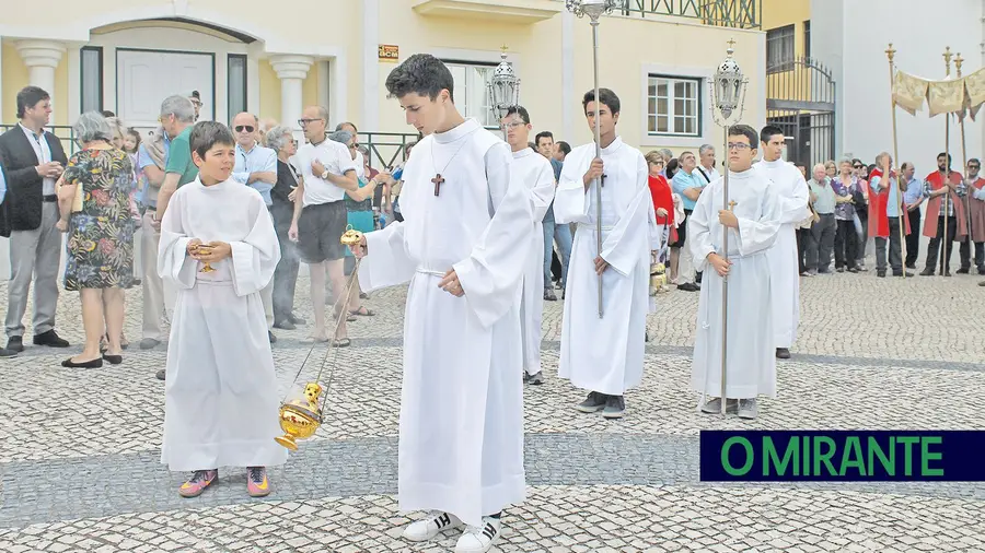
[{"label": "white robe on rightmost boy, behind the lantern bearer in glasses", "polygon": [[796,225],[810,216],[808,186],[792,163],[777,160],[755,165],[776,185],[779,195],[780,231],[776,244],[767,251],[773,278],[774,348],[787,348],[797,341],[800,323],[800,264],[797,262]]}]

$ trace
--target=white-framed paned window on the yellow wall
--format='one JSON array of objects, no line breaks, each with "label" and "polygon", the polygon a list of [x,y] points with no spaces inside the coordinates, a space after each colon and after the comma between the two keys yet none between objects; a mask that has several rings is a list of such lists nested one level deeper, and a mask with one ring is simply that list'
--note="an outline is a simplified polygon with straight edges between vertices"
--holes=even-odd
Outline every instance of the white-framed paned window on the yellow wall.
[{"label": "white-framed paned window on the yellow wall", "polygon": [[649,134],[700,136],[700,79],[650,75],[647,91],[647,132]]}]

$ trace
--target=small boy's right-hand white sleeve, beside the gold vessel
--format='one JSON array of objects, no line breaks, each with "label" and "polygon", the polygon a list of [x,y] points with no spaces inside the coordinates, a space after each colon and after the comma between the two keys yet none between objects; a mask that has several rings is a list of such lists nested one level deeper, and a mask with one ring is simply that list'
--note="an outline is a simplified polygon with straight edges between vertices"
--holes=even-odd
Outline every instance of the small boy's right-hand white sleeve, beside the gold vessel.
[{"label": "small boy's right-hand white sleeve, beside the gold vessel", "polygon": [[[274,219],[267,211],[263,197],[252,195],[248,209],[253,227],[242,240],[230,240],[232,249],[233,290],[240,297],[259,292],[274,279],[274,270],[280,261],[280,245],[274,231]],[[165,213],[166,214],[166,213]]]}]

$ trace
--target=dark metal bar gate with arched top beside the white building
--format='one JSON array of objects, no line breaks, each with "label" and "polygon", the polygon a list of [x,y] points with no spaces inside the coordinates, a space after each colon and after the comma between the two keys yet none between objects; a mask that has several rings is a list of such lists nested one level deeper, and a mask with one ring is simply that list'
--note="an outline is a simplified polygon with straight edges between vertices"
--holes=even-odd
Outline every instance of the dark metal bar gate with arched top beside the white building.
[{"label": "dark metal bar gate with arched top beside the white building", "polygon": [[835,81],[811,58],[766,68],[766,122],[787,138],[787,161],[835,160]]}]

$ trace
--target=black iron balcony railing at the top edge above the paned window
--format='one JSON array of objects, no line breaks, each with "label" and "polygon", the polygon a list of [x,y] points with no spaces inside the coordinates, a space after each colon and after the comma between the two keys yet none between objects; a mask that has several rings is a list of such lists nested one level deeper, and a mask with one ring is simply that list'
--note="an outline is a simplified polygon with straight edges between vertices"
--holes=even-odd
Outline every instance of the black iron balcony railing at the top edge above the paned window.
[{"label": "black iron balcony railing at the top edge above the paned window", "polygon": [[621,0],[623,15],[670,15],[698,20],[705,25],[762,28],[763,0]]}]

